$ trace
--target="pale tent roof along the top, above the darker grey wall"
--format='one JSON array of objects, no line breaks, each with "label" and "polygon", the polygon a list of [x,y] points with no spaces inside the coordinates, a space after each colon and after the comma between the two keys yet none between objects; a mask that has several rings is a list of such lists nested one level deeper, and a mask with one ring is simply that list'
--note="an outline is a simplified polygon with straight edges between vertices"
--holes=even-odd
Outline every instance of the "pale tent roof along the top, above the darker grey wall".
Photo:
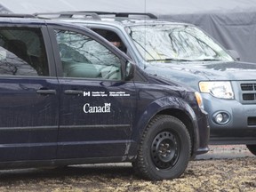
[{"label": "pale tent roof along the top, above the darker grey wall", "polygon": [[254,12],[255,0],[0,0],[12,12],[110,11],[189,14],[211,12]]}]

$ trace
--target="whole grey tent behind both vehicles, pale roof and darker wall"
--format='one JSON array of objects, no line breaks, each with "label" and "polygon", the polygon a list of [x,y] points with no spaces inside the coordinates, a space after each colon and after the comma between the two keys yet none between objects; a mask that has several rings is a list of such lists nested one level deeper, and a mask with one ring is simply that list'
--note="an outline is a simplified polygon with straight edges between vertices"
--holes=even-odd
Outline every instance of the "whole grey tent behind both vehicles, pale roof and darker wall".
[{"label": "whole grey tent behind both vehicles, pale roof and darker wall", "polygon": [[193,23],[241,60],[256,62],[256,0],[0,0],[17,13],[58,11],[153,12]]}]

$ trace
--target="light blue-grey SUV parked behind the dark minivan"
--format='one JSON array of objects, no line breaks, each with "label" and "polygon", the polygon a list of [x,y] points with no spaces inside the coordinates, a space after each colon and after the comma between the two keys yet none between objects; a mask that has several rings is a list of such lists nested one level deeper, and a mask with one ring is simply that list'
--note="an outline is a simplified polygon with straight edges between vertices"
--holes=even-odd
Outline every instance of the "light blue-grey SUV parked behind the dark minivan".
[{"label": "light blue-grey SUV parked behind the dark minivan", "polygon": [[210,144],[246,144],[256,155],[256,65],[235,60],[200,28],[128,12],[37,16],[77,23],[120,41],[120,49],[147,73],[195,88],[209,114]]}]

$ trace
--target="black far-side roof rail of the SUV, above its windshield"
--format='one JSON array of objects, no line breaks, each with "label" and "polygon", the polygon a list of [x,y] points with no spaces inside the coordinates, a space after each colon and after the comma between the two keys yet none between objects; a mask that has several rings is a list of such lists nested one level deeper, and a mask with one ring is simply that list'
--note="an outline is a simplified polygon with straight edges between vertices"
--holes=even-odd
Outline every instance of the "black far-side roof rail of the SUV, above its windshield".
[{"label": "black far-side roof rail of the SUV, above its windshield", "polygon": [[[91,12],[91,11],[90,11]],[[157,19],[156,15],[149,12],[94,12],[98,15],[114,15],[115,17],[125,17],[128,18],[129,16],[146,16],[149,19]]]}]

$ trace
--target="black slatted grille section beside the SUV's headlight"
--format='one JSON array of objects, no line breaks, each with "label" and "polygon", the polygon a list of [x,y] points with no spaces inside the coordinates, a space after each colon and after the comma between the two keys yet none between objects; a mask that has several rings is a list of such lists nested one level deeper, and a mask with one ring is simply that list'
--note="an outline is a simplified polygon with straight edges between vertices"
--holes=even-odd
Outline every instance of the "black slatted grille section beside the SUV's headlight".
[{"label": "black slatted grille section beside the SUV's headlight", "polygon": [[243,84],[240,84],[240,87],[242,91],[243,102],[248,104],[255,103],[256,102],[256,83],[246,83],[246,84],[243,83]]}]

